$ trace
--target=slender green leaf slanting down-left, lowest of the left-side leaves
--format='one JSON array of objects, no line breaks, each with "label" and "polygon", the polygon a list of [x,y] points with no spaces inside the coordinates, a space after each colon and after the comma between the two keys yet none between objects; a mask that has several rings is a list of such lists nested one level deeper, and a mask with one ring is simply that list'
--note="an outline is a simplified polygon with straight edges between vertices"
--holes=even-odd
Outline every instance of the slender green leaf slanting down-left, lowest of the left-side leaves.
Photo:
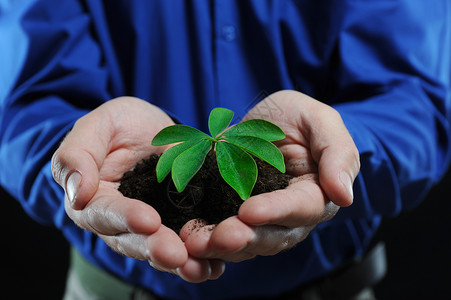
[{"label": "slender green leaf slanting down-left, lowest of the left-side leaves", "polygon": [[172,164],[172,180],[179,193],[183,192],[188,182],[202,167],[208,151],[211,149],[210,140],[201,140],[191,148],[183,151]]}]

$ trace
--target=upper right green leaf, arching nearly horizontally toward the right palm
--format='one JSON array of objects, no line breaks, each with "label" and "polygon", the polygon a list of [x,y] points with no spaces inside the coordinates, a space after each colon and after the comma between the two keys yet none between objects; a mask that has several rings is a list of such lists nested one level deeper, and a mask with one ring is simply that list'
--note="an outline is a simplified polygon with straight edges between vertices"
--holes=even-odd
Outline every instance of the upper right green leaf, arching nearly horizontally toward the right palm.
[{"label": "upper right green leaf, arching nearly horizontally toward the right palm", "polygon": [[238,123],[224,132],[225,138],[229,136],[253,136],[272,142],[283,140],[285,138],[285,133],[279,126],[269,121],[263,119],[251,119]]}]

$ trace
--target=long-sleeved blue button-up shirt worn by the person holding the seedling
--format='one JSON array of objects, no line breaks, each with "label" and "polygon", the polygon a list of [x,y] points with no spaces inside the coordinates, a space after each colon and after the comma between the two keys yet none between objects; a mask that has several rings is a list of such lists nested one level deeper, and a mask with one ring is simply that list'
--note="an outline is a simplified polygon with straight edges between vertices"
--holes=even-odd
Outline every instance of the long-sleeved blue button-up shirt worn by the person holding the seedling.
[{"label": "long-sleeved blue button-up shirt worn by the person holding the seedling", "polygon": [[[90,262],[159,295],[276,295],[362,254],[381,216],[440,179],[450,55],[448,0],[0,0],[0,183]],[[117,255],[66,216],[50,158],[104,101],[137,96],[206,129],[213,107],[242,117],[281,89],[334,106],[362,163],[354,204],[294,249],[191,284]]]}]

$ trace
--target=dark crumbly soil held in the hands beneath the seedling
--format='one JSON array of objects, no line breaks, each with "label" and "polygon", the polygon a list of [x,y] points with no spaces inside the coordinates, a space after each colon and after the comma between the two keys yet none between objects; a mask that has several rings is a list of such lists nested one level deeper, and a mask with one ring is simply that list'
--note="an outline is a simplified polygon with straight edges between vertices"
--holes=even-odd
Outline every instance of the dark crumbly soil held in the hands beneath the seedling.
[{"label": "dark crumbly soil held in the hands beneath the seedling", "polygon": [[[218,224],[237,215],[243,200],[220,176],[216,158],[211,152],[204,165],[182,193],[178,193],[168,175],[157,182],[155,166],[158,156],[153,154],[125,173],[119,191],[126,197],[146,202],[155,208],[162,223],[179,232],[186,222],[204,219],[207,224]],[[290,175],[280,173],[271,165],[256,159],[257,183],[252,195],[284,189]]]}]

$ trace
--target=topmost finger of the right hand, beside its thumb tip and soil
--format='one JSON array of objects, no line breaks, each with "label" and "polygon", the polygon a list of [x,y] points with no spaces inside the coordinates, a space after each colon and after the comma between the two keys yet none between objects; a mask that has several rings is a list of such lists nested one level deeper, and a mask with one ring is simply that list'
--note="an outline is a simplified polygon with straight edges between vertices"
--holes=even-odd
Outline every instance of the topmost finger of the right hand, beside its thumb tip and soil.
[{"label": "topmost finger of the right hand, beside its thumb tip and soil", "polygon": [[338,206],[330,202],[314,175],[295,179],[284,190],[253,196],[240,207],[238,216],[253,225],[280,225],[288,228],[316,225],[330,219]]}]

